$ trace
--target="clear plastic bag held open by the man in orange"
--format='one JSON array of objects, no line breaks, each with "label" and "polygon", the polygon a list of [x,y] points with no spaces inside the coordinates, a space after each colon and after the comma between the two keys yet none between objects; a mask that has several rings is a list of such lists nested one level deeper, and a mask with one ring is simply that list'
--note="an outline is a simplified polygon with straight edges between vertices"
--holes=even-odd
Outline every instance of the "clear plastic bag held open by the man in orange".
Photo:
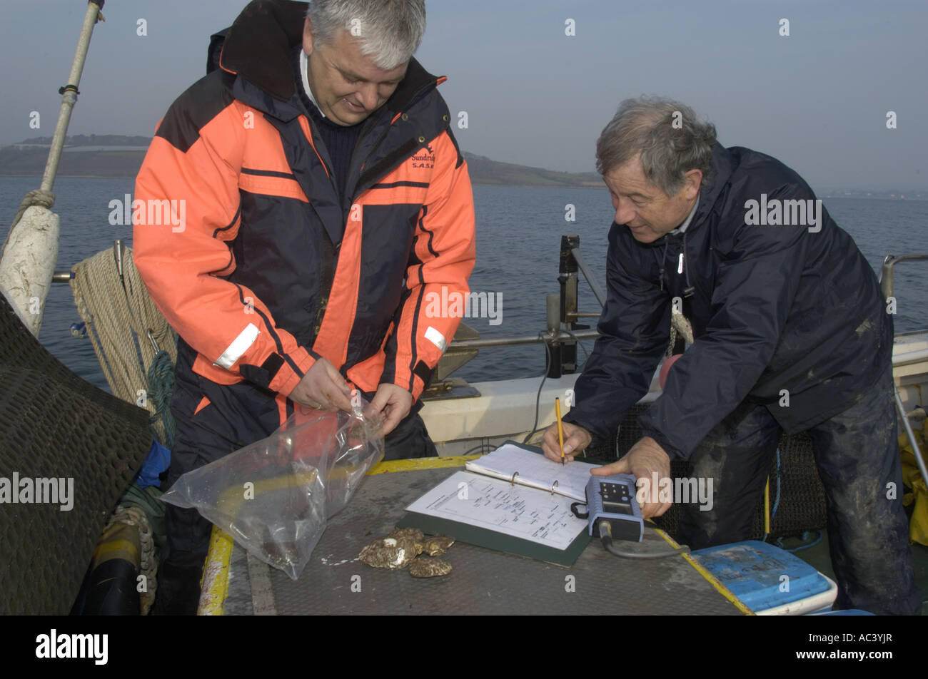
[{"label": "clear plastic bag held open by the man in orange", "polygon": [[255,557],[296,580],[367,470],[383,459],[380,417],[297,406],[266,439],[187,472],[161,499],[195,507]]}]

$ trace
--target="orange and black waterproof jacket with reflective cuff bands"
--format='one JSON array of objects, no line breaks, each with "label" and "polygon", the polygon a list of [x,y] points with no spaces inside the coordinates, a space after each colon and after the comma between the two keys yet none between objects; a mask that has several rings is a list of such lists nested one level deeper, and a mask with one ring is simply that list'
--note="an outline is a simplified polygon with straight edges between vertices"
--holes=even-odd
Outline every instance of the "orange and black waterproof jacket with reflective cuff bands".
[{"label": "orange and black waterproof jacket with reflective cuff bands", "polygon": [[193,371],[276,391],[281,418],[319,357],[362,391],[417,399],[460,322],[429,301],[466,295],[474,263],[445,79],[410,60],[360,123],[340,196],[290,66],[305,7],[245,8],[222,69],[177,98],[135,183],[135,265]]}]

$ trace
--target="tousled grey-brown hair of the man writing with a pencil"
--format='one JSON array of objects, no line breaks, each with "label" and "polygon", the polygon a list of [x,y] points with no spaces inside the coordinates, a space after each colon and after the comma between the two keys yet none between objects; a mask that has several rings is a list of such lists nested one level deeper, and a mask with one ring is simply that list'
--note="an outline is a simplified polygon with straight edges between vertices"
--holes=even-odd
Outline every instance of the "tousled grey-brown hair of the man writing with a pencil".
[{"label": "tousled grey-brown hair of the man writing with a pencil", "polygon": [[715,125],[700,122],[686,104],[661,96],[625,99],[596,142],[596,169],[605,174],[641,154],[641,169],[667,196],[679,193],[685,173],[709,176]]}]

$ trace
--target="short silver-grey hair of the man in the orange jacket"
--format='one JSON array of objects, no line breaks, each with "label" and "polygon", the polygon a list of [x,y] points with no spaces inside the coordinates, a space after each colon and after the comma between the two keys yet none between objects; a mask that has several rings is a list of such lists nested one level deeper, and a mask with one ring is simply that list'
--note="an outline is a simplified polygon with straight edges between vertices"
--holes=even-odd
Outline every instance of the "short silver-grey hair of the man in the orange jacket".
[{"label": "short silver-grey hair of the man in the orange jacket", "polygon": [[339,31],[357,35],[361,53],[383,70],[412,57],[425,33],[424,0],[313,0],[306,11],[313,39],[331,45]]}]

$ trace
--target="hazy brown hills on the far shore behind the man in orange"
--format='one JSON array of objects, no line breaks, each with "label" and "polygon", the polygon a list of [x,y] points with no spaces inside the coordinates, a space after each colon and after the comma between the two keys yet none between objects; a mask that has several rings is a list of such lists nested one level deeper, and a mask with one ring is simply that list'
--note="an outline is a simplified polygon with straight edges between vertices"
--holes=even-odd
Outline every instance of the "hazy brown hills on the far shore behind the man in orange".
[{"label": "hazy brown hills on the far shore behind the man in orange", "polygon": [[[66,137],[58,165],[62,177],[135,177],[151,137],[73,135]],[[37,136],[0,147],[0,176],[42,176],[51,137]],[[107,150],[101,147],[114,147]],[[137,150],[136,150],[137,149]],[[559,173],[464,153],[470,181],[478,186],[602,186],[597,173]]]}]

